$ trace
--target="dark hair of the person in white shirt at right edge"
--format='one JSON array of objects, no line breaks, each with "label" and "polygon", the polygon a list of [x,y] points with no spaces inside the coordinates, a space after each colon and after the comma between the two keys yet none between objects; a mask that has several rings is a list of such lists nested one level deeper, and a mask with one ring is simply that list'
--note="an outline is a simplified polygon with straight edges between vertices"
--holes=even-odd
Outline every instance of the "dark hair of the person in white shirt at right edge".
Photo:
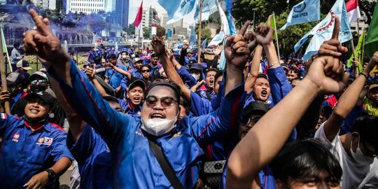
[{"label": "dark hair of the person in white shirt at right edge", "polygon": [[[358,132],[361,141],[378,147],[378,117],[365,115],[357,118],[351,127],[351,132]],[[377,150],[376,148],[375,151]]]}]

